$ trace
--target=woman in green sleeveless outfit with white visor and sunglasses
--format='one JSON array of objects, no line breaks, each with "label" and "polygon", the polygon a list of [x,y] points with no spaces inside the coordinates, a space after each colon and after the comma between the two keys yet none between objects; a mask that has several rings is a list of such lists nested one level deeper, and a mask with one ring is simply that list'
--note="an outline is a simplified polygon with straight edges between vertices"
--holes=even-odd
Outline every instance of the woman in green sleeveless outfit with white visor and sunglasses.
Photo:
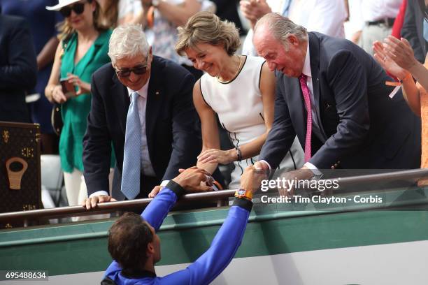
[{"label": "woman in green sleeveless outfit with white visor and sunglasses", "polygon": [[[82,142],[91,108],[90,79],[94,71],[110,61],[107,52],[111,31],[100,24],[100,7],[95,0],[59,0],[57,5],[46,8],[59,11],[65,18],[45,95],[51,102],[62,103],[64,126],[59,156],[69,205],[78,205],[87,197]],[[59,78],[67,78],[75,93],[66,96]]]}]

